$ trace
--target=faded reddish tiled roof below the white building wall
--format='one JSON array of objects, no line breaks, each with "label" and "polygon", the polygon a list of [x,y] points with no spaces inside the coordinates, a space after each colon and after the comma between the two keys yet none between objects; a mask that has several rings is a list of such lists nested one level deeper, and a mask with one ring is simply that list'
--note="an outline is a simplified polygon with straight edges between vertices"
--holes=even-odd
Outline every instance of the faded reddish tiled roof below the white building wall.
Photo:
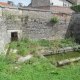
[{"label": "faded reddish tiled roof below the white building wall", "polygon": [[51,6],[50,9],[55,12],[73,13],[74,11],[69,7]]}]

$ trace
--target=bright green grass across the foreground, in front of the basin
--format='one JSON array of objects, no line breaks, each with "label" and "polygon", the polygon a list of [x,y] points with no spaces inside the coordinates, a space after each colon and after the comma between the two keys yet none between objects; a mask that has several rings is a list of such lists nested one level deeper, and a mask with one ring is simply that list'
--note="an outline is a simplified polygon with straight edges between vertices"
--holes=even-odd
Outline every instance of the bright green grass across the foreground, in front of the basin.
[{"label": "bright green grass across the foreground, in front of the basin", "polygon": [[0,55],[0,80],[80,80],[80,63],[56,68],[46,58],[33,55],[24,63],[10,62]]}]

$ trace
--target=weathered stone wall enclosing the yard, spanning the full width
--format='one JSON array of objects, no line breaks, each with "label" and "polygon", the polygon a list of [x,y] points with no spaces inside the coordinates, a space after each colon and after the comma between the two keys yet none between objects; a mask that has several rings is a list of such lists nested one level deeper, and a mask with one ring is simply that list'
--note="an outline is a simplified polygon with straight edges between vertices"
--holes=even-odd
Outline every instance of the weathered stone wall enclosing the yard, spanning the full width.
[{"label": "weathered stone wall enclosing the yard, spanning the full width", "polygon": [[[19,39],[24,36],[31,40],[54,40],[66,37],[75,37],[77,41],[80,40],[80,13],[64,13],[66,15],[64,17],[61,15],[63,13],[55,13],[50,10],[28,8],[20,9],[20,11],[18,9],[9,10],[7,8],[1,10],[3,11],[0,12],[5,11],[8,14],[27,15],[29,18],[25,22],[25,18],[21,21],[18,17],[15,20],[7,20],[0,17],[0,52],[4,50],[5,44],[10,42],[11,32],[18,32]],[[50,22],[53,16],[58,17],[58,23]]]}]

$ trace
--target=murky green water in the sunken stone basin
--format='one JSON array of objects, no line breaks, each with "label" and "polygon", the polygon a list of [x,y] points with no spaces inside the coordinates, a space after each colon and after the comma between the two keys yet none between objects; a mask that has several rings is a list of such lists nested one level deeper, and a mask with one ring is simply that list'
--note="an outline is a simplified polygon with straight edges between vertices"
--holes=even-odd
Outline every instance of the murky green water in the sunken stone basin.
[{"label": "murky green water in the sunken stone basin", "polygon": [[80,52],[68,52],[62,54],[47,55],[45,57],[51,62],[56,63],[61,60],[80,57]]}]

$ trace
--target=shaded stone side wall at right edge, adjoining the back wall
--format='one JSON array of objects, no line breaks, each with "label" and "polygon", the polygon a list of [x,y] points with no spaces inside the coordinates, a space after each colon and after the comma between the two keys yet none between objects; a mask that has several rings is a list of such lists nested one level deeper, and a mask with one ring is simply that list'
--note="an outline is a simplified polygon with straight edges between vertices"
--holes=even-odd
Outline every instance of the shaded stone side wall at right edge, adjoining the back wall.
[{"label": "shaded stone side wall at right edge, adjoining the back wall", "polygon": [[76,41],[80,43],[80,13],[72,15],[70,20],[71,36],[75,37]]}]

